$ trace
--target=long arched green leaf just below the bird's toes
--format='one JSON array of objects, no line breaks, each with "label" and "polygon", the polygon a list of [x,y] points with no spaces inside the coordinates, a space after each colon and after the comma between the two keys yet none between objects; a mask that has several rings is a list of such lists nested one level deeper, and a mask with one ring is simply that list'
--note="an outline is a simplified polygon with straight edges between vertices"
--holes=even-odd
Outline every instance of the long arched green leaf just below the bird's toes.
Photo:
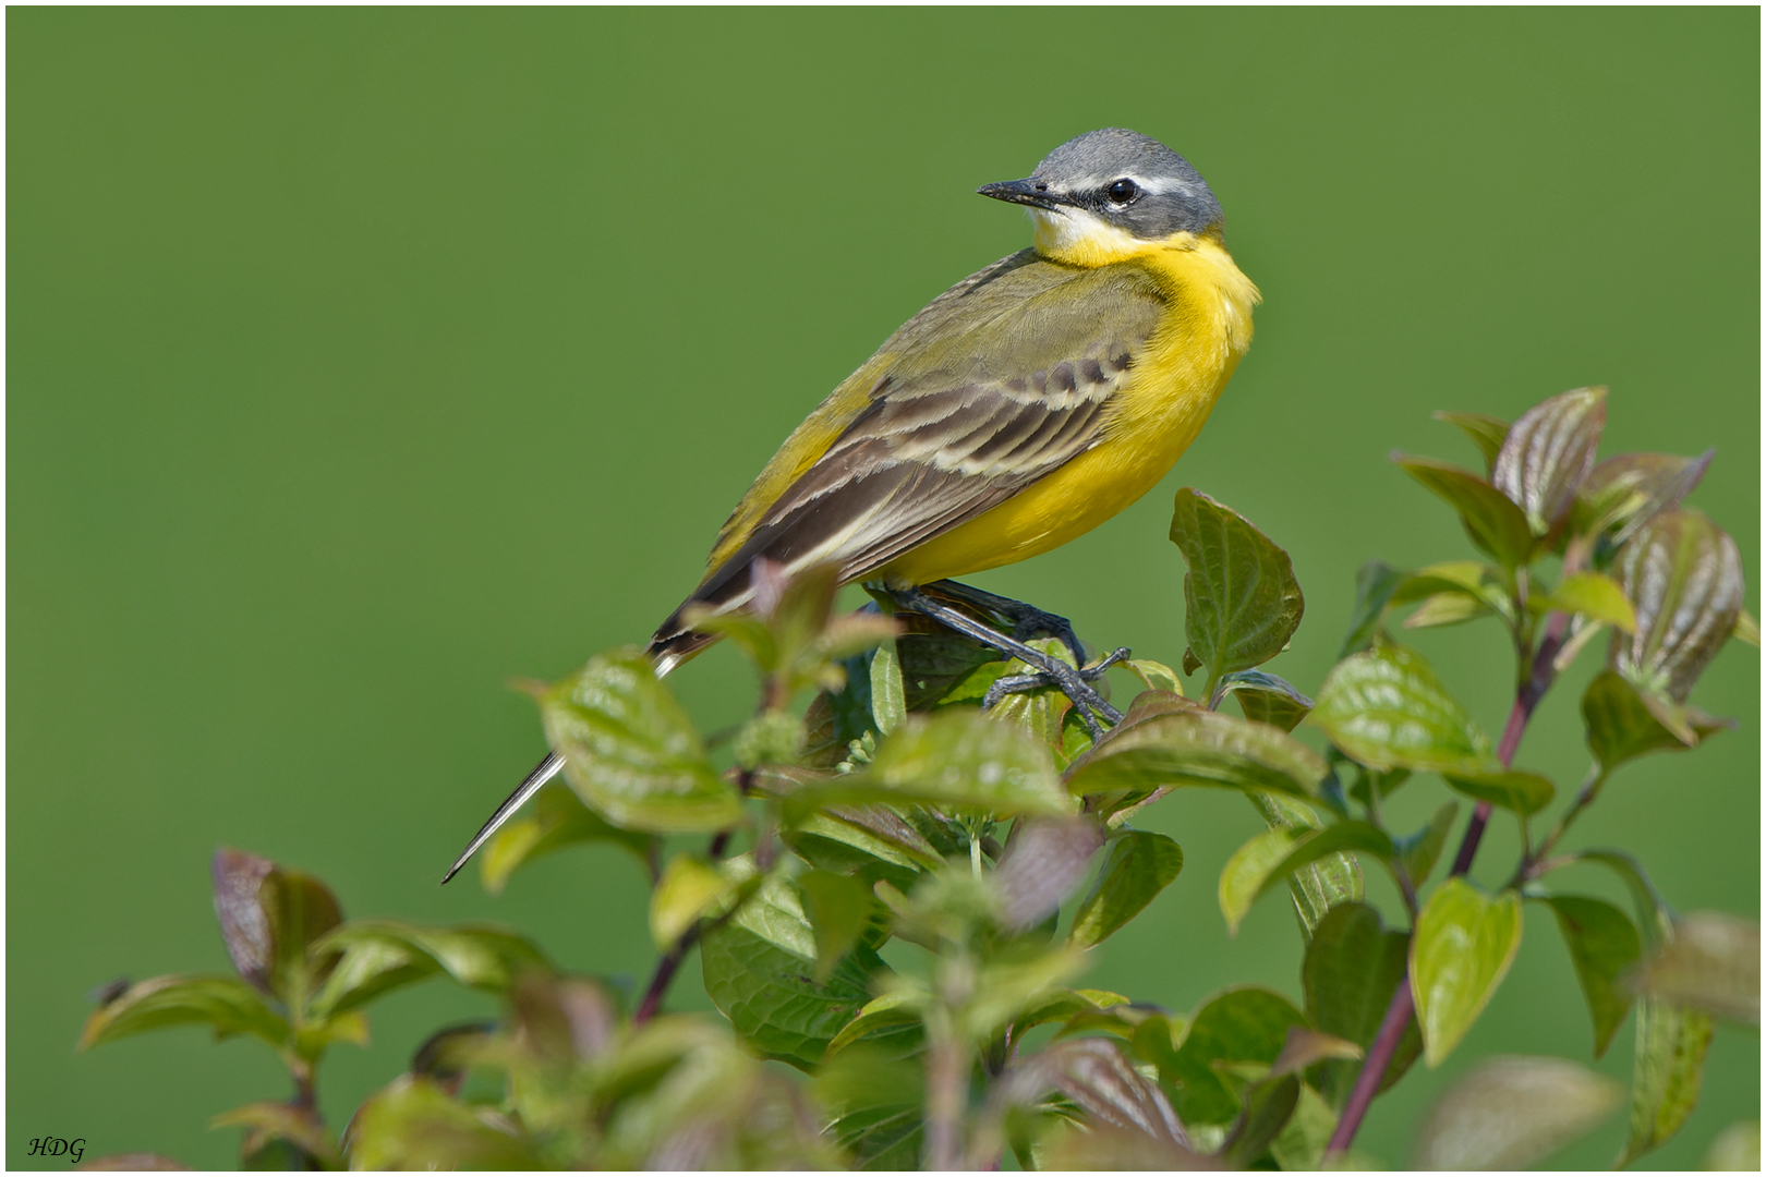
[{"label": "long arched green leaf just below the bird's toes", "polygon": [[1319,753],[1277,727],[1183,709],[1132,725],[1125,720],[1074,761],[1067,787],[1090,796],[1213,785],[1307,798],[1326,771]]}]

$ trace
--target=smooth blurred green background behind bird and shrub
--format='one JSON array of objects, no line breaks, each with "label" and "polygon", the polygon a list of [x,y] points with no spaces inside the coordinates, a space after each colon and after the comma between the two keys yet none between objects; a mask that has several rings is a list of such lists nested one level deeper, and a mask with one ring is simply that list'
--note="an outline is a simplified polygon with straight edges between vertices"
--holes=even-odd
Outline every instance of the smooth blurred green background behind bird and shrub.
[{"label": "smooth blurred green background behind bird and shrub", "polygon": [[[1759,579],[1755,9],[11,9],[7,34],[12,1166],[44,1165],[44,1133],[231,1165],[207,1119],[283,1094],[268,1052],[194,1029],[72,1053],[92,986],[226,969],[219,843],[321,875],[350,914],[493,918],[643,978],[643,881],[611,849],[498,900],[472,872],[436,888],[542,750],[505,678],[648,635],[804,413],[1028,244],[975,185],[1083,131],[1185,154],[1266,304],[1164,485],[980,584],[1176,663],[1164,536],[1196,485],[1293,552],[1307,623],[1273,669],[1310,690],[1363,559],[1469,554],[1386,454],[1473,462],[1430,409],[1513,416],[1588,383],[1612,388],[1609,454],[1717,445],[1694,503]],[[1496,731],[1496,630],[1418,644]],[[1596,660],[1522,745],[1559,787]],[[728,649],[671,685],[705,729],[752,699]],[[1581,836],[1634,849],[1681,909],[1754,916],[1755,651],[1695,699],[1740,729],[1625,769]],[[1411,785],[1400,819],[1439,792]],[[1226,794],[1162,810],[1189,866],[1086,983],[1174,1009],[1231,981],[1298,997],[1291,912],[1227,939],[1215,905],[1257,817]],[[1476,875],[1513,849],[1498,821]],[[675,1004],[706,1006],[698,965]],[[327,1115],[487,1009],[442,983],[376,1006],[373,1046],[327,1062]],[[1469,1061],[1589,1038],[1529,911],[1471,1038],[1362,1143],[1402,1165]],[[1628,1076],[1630,1031],[1600,1066]],[[1725,1027],[1648,1165],[1695,1165],[1757,1108],[1759,1039]],[[1605,1165],[1621,1133],[1554,1163]]]}]

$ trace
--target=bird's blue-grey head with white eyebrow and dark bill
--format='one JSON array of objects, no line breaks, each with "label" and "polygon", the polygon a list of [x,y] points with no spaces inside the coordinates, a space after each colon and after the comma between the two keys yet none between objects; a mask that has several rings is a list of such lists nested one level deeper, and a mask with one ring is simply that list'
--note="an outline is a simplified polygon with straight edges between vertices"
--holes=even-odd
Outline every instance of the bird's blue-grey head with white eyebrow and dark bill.
[{"label": "bird's blue-grey head with white eyebrow and dark bill", "polygon": [[1040,210],[1038,228],[1054,224],[1054,217],[1075,222],[1095,217],[1141,242],[1162,242],[1173,233],[1219,233],[1226,222],[1220,201],[1187,159],[1151,136],[1121,127],[1068,139],[1028,180],[984,184],[977,192]]}]

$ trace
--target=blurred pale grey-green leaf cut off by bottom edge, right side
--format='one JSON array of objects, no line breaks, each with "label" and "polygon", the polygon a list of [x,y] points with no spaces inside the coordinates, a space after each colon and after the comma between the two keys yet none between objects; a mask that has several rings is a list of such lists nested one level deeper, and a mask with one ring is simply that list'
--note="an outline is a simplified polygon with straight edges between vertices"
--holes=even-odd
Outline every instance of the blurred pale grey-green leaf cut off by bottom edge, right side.
[{"label": "blurred pale grey-green leaf cut off by bottom edge, right side", "polygon": [[1519,1170],[1586,1136],[1619,1106],[1605,1075],[1565,1059],[1483,1059],[1441,1092],[1416,1135],[1416,1168]]}]

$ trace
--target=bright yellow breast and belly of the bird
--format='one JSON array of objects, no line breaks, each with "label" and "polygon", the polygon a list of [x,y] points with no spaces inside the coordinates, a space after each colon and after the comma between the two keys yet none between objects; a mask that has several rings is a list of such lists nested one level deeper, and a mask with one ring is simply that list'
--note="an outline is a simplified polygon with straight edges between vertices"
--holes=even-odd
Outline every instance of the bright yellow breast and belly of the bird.
[{"label": "bright yellow breast and belly of the bird", "polygon": [[1111,401],[1095,446],[1000,506],[902,554],[881,577],[927,584],[1017,563],[1074,540],[1153,489],[1171,469],[1250,348],[1250,311],[1261,302],[1213,236],[1166,242],[1045,240],[1040,252],[1070,265],[1132,265],[1167,295],[1167,312],[1134,355],[1134,379]]}]

